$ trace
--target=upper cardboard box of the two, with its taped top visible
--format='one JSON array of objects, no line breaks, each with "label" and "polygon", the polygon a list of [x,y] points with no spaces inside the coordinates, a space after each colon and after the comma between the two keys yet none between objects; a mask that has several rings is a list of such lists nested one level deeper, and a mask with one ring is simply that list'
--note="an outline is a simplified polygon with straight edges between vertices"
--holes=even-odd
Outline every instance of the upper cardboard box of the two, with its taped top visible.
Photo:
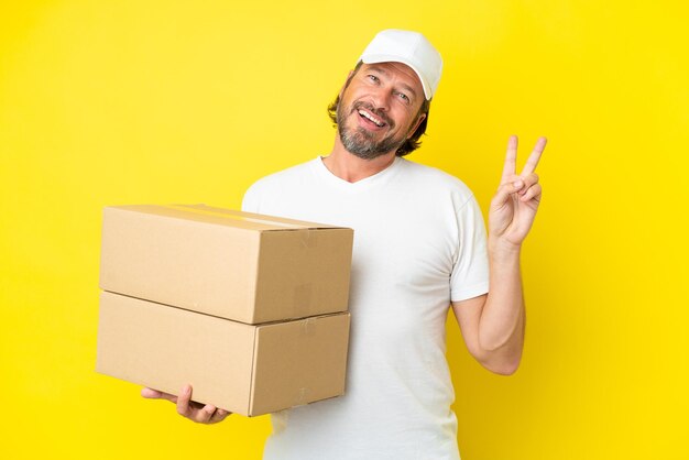
[{"label": "upper cardboard box of the two, with its taped top visible", "polygon": [[247,324],[346,311],[352,239],[203,205],[108,207],[100,287]]}]

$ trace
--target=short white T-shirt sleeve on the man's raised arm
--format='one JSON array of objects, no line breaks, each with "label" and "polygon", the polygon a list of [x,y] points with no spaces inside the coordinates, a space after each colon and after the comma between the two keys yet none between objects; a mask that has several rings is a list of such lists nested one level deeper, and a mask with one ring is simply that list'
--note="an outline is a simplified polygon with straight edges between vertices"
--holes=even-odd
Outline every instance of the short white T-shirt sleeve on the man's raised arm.
[{"label": "short white T-shirt sleeve on the man's raised arm", "polygon": [[489,265],[485,224],[473,195],[463,204],[453,200],[457,218],[457,252],[450,276],[450,299],[466,300],[488,293]]}]

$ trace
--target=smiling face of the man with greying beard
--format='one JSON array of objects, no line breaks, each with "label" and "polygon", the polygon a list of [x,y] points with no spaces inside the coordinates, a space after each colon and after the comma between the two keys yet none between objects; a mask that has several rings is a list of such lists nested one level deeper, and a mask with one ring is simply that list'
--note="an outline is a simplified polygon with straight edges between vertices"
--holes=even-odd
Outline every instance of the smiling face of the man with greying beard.
[{"label": "smiling face of the man with greying beard", "polygon": [[396,152],[426,117],[416,73],[401,63],[362,64],[340,95],[337,124],[347,151],[365,160]]}]

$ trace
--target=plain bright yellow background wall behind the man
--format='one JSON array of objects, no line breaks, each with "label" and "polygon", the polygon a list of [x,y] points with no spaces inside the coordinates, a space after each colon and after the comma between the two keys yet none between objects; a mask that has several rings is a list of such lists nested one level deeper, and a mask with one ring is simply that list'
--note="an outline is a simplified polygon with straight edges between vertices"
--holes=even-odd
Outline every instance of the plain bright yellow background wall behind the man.
[{"label": "plain bright yellow background wall behind the man", "polygon": [[685,4],[3,0],[0,457],[261,457],[267,417],[197,426],[94,372],[101,208],[238,208],[329,152],[327,103],[404,28],[446,64],[411,160],[485,210],[507,136],[522,162],[550,139],[522,368],[482,370],[448,322],[463,459],[688,459]]}]

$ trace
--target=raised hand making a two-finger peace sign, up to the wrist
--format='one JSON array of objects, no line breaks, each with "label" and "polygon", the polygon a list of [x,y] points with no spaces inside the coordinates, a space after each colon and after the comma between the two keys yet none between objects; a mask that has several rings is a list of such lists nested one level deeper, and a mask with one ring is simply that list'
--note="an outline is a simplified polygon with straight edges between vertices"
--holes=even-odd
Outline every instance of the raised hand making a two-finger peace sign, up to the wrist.
[{"label": "raised hand making a two-finger peace sign, up to the wrist", "polygon": [[507,142],[507,156],[500,187],[491,201],[489,236],[493,243],[518,249],[534,223],[540,202],[540,184],[534,173],[546,147],[546,138],[538,139],[521,174],[516,174],[517,136]]}]

